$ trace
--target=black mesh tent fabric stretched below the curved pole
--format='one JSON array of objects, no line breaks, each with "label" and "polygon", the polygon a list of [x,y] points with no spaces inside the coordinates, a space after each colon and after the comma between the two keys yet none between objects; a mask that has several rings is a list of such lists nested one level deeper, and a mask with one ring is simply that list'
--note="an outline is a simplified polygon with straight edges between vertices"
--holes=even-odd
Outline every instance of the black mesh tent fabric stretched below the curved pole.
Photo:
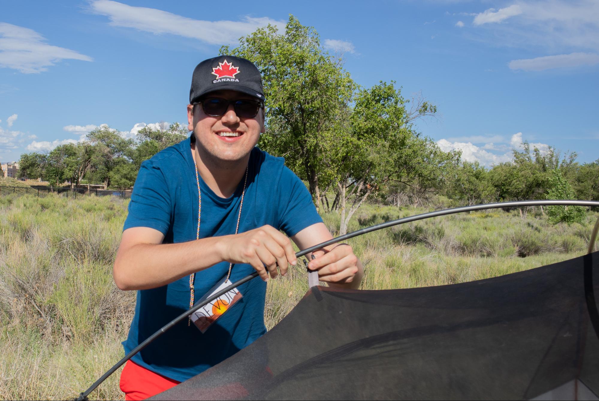
[{"label": "black mesh tent fabric stretched below the curved pole", "polygon": [[438,287],[313,287],[258,341],[153,399],[596,400],[598,260]]}]

